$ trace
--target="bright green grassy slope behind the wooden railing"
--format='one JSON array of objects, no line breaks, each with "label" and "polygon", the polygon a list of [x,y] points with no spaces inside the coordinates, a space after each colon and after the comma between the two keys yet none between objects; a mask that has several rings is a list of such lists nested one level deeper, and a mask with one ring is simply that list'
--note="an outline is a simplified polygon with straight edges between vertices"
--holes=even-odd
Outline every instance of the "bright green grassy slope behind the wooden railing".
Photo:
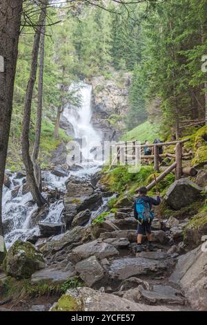
[{"label": "bright green grassy slope behind the wooden railing", "polygon": [[154,142],[155,138],[159,138],[159,124],[152,124],[146,121],[140,124],[138,127],[135,127],[135,129],[128,131],[122,137],[122,140],[137,140],[142,143],[145,142],[145,140]]}]

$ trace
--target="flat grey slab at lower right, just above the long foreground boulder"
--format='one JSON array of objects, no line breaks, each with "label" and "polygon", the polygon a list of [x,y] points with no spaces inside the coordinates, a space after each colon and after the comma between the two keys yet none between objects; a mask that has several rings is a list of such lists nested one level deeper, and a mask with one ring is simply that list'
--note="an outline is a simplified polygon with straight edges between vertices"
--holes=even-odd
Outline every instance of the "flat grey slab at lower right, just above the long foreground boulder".
[{"label": "flat grey slab at lower right, just above the long foreground boulder", "polygon": [[185,304],[179,290],[170,286],[155,285],[152,290],[145,290],[139,287],[139,293],[147,304]]}]

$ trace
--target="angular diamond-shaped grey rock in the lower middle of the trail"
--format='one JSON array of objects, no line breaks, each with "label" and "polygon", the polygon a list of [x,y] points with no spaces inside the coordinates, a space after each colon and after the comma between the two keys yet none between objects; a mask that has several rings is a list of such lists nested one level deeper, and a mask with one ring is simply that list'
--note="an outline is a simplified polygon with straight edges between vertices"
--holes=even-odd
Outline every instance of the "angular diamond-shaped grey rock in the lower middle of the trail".
[{"label": "angular diamond-shaped grey rock in the lower middle of the trail", "polygon": [[95,256],[77,263],[75,270],[79,273],[84,284],[89,287],[92,287],[97,281],[101,281],[105,277],[105,271]]}]

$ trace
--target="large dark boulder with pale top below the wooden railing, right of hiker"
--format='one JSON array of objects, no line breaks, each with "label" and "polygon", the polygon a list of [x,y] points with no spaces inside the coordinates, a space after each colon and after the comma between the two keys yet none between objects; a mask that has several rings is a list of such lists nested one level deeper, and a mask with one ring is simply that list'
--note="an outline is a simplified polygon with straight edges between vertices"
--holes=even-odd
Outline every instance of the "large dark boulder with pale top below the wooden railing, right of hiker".
[{"label": "large dark boulder with pale top below the wooden railing, right of hiker", "polygon": [[188,178],[181,178],[169,187],[166,193],[166,203],[174,210],[180,210],[195,202],[201,194],[201,188]]}]

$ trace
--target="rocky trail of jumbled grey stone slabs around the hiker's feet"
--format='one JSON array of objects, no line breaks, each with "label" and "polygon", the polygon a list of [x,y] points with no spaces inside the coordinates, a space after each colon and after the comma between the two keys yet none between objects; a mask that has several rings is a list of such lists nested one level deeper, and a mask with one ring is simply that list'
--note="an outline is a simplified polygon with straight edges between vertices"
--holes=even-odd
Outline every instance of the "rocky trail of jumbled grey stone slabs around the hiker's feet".
[{"label": "rocky trail of jumbled grey stone slabs around the hiker's feet", "polygon": [[[197,189],[194,187],[194,190]],[[175,190],[171,196],[173,193]],[[6,272],[16,278],[31,277],[34,286],[46,282],[57,286],[70,279],[79,279],[81,287],[70,288],[53,307],[52,303],[57,301],[58,296],[54,299],[45,297],[43,300],[41,297],[39,300],[19,301],[12,309],[48,310],[52,307],[61,310],[66,308],[62,307],[64,299],[76,301],[76,307],[72,307],[75,308],[72,310],[205,308],[206,293],[203,293],[203,297],[199,290],[204,281],[206,255],[200,248],[186,253],[181,234],[188,218],[164,219],[161,229],[159,220],[155,218],[152,223],[155,250],[149,252],[145,249],[136,253],[137,221],[133,218],[132,202],[128,198],[118,201],[117,211],[108,214],[105,221],[90,222],[92,211],[108,195],[99,187],[99,182],[92,185],[86,178],[78,176],[70,176],[66,180],[63,198],[66,232],[51,236],[51,231],[56,232],[57,229],[46,231],[45,223],[44,231],[39,237],[29,238],[26,243],[17,241],[8,252]],[[44,215],[43,210],[37,211],[34,223],[39,222]],[[48,238],[43,237],[46,234]],[[36,247],[29,241],[36,242]],[[26,248],[26,245],[31,248]],[[146,248],[145,243],[144,247]],[[26,275],[24,267],[30,262],[27,249],[32,249],[34,256]],[[1,273],[1,284],[6,281],[7,275]],[[195,299],[196,296],[198,299]],[[4,304],[3,308],[10,309],[11,304]]]}]

